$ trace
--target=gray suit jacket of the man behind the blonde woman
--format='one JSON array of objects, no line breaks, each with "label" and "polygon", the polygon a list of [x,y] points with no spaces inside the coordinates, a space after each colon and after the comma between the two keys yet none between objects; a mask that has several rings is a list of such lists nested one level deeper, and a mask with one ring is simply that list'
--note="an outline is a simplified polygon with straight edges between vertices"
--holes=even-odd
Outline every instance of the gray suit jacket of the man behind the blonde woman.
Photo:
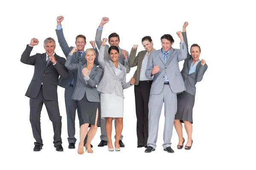
[{"label": "gray suit jacket of the man behind the blonde woman", "polygon": [[[70,51],[72,51],[73,49],[73,46],[68,46],[67,45],[67,41],[65,40],[65,37],[64,37],[64,34],[63,34],[63,29],[60,29],[60,30],[55,30],[56,31],[56,34],[57,34],[57,37],[58,37],[58,43],[60,44],[61,46],[61,50],[63,51],[65,57],[67,57],[67,55],[70,53]],[[96,65],[99,65],[98,63],[98,50],[97,48],[94,49],[95,52],[96,52],[96,58],[94,60],[94,64]],[[78,54],[79,54],[79,51],[76,51],[72,57],[72,60],[71,60],[71,63],[77,63],[77,60],[78,60]],[[81,56],[81,62],[82,64],[86,63],[86,59],[84,58],[84,54]],[[68,76],[66,78],[64,77],[60,77],[58,79],[58,85],[63,87],[63,88],[68,88],[72,82],[72,79],[74,78],[74,84],[73,84],[73,87],[75,88],[76,87],[76,79],[77,79],[77,72],[76,70],[69,70],[69,73],[68,73]]]}]

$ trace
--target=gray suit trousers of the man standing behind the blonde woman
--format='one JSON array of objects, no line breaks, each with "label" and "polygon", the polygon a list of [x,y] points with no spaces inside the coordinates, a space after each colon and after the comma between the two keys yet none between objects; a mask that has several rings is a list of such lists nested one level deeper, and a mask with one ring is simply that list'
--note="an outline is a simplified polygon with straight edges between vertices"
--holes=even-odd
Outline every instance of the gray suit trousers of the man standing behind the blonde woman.
[{"label": "gray suit trousers of the man standing behind the blonde woman", "polygon": [[[67,113],[67,134],[68,134],[68,143],[76,143],[76,128],[75,128],[75,119],[76,119],[76,100],[71,99],[71,96],[74,92],[73,87],[68,87],[65,89],[65,105]],[[81,114],[78,113],[79,125],[81,122]]]}]

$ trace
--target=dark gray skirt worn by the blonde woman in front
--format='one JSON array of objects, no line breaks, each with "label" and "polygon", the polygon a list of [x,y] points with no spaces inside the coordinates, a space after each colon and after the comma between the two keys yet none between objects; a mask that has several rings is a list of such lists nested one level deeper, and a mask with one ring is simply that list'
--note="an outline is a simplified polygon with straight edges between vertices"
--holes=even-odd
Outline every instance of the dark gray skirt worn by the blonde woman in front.
[{"label": "dark gray skirt worn by the blonde woman in front", "polygon": [[99,102],[89,102],[87,100],[86,92],[85,92],[83,99],[77,100],[77,110],[81,115],[81,125],[83,125],[84,123],[95,125],[96,113],[98,108],[97,126],[100,126],[101,115],[100,115],[99,107],[100,107]]}]

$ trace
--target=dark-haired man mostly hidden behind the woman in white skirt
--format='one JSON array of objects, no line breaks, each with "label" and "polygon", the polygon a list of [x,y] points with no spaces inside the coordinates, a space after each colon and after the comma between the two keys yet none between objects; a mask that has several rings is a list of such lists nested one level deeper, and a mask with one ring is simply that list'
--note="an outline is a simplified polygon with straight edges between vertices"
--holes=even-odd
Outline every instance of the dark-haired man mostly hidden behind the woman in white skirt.
[{"label": "dark-haired man mostly hidden behind the woman in white skirt", "polygon": [[[96,31],[96,36],[95,36],[95,42],[97,47],[100,49],[101,45],[102,45],[102,29],[103,26],[108,23],[109,19],[107,17],[103,17],[101,20],[101,23]],[[131,68],[129,67],[129,53],[126,50],[123,50],[119,47],[119,42],[120,42],[120,38],[119,35],[116,33],[112,33],[108,36],[108,43],[110,44],[110,46],[116,46],[119,48],[119,57],[118,57],[118,62],[121,63],[122,65],[125,66],[126,68],[126,73],[129,73]],[[104,51],[104,60],[109,61],[110,57],[108,55],[108,49],[110,47],[109,45],[106,45],[105,51]],[[99,143],[98,147],[103,147],[108,145],[108,139],[107,139],[107,134],[106,134],[106,130],[105,130],[105,123],[106,121],[104,119],[101,119],[101,126],[100,126],[100,130],[101,130],[101,142]],[[115,120],[115,125],[116,125],[116,120]],[[116,136],[115,136],[116,138]],[[122,142],[123,136],[121,134],[120,140],[119,140],[119,145],[120,147],[125,147],[125,144],[123,144]]]}]

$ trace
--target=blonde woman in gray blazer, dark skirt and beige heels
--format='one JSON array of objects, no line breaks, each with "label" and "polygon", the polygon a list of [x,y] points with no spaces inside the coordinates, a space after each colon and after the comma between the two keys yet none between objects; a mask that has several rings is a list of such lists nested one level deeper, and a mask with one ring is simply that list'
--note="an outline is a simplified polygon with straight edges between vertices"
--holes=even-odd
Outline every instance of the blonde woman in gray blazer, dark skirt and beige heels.
[{"label": "blonde woman in gray blazer, dark skirt and beige heels", "polygon": [[[96,85],[98,85],[102,76],[102,69],[94,65],[96,53],[93,48],[84,51],[86,64],[81,61],[76,64],[72,63],[73,54],[76,51],[78,51],[78,48],[73,47],[67,56],[65,66],[69,70],[77,70],[76,88],[71,97],[77,101],[77,109],[81,113],[80,142],[77,152],[79,154],[84,153],[84,138],[88,133],[85,151],[93,153],[90,143],[97,132],[97,127],[100,126],[100,116],[98,115],[99,93]],[[89,124],[90,130],[88,131]]]}]

